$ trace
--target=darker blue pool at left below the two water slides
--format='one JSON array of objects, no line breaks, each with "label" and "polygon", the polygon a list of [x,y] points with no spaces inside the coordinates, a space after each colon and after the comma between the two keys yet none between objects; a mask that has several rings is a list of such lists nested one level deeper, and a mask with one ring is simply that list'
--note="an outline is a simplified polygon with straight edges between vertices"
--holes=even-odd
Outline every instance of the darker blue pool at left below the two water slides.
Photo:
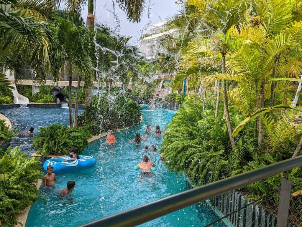
[{"label": "darker blue pool at left below the two water slides", "polygon": [[[82,109],[78,109],[78,113],[82,113]],[[14,129],[19,133],[27,131],[30,127],[34,127],[33,134],[17,135],[11,139],[9,146],[22,146],[22,151],[31,154],[31,143],[29,140],[36,134],[41,127],[53,124],[69,125],[68,108],[28,108],[20,107],[13,109],[0,109],[0,113],[8,117]]]}]

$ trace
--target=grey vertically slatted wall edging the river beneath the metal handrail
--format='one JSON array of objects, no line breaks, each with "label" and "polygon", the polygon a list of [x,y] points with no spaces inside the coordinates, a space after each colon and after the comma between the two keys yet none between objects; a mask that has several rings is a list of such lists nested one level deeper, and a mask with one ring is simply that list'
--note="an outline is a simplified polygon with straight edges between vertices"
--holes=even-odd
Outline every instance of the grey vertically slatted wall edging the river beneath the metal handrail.
[{"label": "grey vertically slatted wall edging the river beneath the metal handrail", "polygon": [[[191,185],[192,188],[196,187],[191,184],[190,179],[186,179],[188,185]],[[252,202],[251,200],[246,200],[245,197],[246,196],[240,192],[232,190],[212,198],[211,201],[212,204],[214,204],[215,214],[218,218],[222,218],[228,213],[232,213]],[[202,203],[205,206],[211,207],[209,200],[203,201]],[[274,227],[277,225],[275,216],[257,204],[251,204],[240,211],[231,214],[228,218],[224,218],[223,222],[227,227]]]}]

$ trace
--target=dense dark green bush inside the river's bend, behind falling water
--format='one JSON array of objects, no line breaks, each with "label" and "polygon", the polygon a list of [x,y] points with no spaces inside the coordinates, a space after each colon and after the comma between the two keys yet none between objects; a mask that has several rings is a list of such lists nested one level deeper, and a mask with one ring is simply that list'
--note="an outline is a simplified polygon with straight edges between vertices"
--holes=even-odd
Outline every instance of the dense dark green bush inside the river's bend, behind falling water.
[{"label": "dense dark green bush inside the river's bend, behind falling water", "polygon": [[[109,129],[137,125],[140,122],[141,115],[138,104],[118,91],[116,91],[115,95],[114,102],[109,102],[107,96],[102,96],[99,104],[98,97],[93,97],[92,107],[86,108],[79,115],[78,125],[83,126],[93,135],[98,135]],[[87,123],[84,124],[85,117],[87,118]],[[100,125],[102,125],[101,131]]]}]

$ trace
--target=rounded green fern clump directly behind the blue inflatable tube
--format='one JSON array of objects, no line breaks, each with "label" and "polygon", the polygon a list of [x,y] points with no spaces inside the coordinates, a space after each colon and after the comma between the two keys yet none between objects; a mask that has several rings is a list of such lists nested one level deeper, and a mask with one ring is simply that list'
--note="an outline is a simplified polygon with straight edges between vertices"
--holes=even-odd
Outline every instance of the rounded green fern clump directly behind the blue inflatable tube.
[{"label": "rounded green fern clump directly behind the blue inflatable tube", "polygon": [[81,127],[50,125],[40,128],[40,132],[31,139],[33,143],[31,148],[42,156],[67,155],[72,147],[80,154],[87,147],[87,139],[90,136],[91,134]]}]

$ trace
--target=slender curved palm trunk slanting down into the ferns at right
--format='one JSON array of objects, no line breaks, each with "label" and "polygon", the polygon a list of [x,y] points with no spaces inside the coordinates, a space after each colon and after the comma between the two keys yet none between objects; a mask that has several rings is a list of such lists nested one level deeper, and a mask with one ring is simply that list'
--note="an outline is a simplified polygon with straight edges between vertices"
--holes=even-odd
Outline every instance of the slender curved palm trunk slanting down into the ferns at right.
[{"label": "slender curved palm trunk slanting down into the ferns at right", "polygon": [[[222,53],[222,73],[224,74],[225,71],[226,71],[226,56],[225,56],[225,53]],[[232,136],[233,130],[232,130],[230,113],[229,113],[229,108],[228,108],[228,103],[227,103],[228,100],[227,100],[227,90],[226,90],[226,81],[225,80],[222,80],[222,88],[223,88],[223,105],[224,105],[224,112],[225,112],[225,116],[226,116],[226,125],[227,125],[227,129],[229,132],[231,145],[233,148],[235,148],[236,143],[235,143],[234,137]]]}]

